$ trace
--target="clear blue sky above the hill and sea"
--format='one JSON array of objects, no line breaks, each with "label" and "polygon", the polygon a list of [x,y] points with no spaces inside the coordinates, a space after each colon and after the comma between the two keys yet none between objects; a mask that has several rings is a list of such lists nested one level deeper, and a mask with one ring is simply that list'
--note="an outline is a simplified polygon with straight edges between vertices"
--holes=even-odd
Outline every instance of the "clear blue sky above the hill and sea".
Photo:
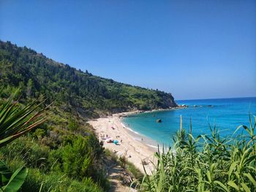
[{"label": "clear blue sky above the hill and sea", "polygon": [[0,39],[175,99],[256,96],[256,1],[0,0]]}]

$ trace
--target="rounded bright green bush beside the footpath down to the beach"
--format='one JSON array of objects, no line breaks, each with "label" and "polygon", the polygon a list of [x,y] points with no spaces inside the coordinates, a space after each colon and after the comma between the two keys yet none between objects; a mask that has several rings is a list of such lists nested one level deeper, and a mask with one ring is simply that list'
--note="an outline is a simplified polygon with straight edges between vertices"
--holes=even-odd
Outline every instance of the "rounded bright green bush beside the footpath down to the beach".
[{"label": "rounded bright green bush beside the footpath down to the beach", "polygon": [[102,167],[102,147],[97,138],[90,134],[88,137],[78,136],[62,149],[63,171],[69,177],[84,180],[91,177],[105,190],[109,188],[105,170]]}]

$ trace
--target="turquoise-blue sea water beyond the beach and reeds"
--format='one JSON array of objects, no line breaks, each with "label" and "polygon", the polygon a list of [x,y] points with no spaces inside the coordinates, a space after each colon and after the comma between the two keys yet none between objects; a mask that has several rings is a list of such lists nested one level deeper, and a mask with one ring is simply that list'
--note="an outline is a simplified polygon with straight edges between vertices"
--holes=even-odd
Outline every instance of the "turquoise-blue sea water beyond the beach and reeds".
[{"label": "turquoise-blue sea water beyond the beach and reeds", "polygon": [[[249,114],[256,115],[256,97],[184,100],[176,103],[189,107],[131,115],[124,118],[123,123],[141,134],[141,137],[148,137],[160,145],[171,145],[170,138],[180,127],[180,115],[183,119],[183,128],[186,130],[189,130],[191,118],[194,136],[209,134],[208,123],[211,126],[215,123],[223,136],[231,135],[239,125],[249,126]],[[162,123],[156,123],[157,119],[162,119]]]}]

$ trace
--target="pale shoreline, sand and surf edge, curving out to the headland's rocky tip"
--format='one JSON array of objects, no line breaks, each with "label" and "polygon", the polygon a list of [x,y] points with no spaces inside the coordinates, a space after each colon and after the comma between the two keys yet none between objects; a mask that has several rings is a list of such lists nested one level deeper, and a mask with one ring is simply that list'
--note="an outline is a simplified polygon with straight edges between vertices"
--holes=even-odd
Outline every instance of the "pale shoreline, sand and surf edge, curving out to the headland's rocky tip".
[{"label": "pale shoreline, sand and surf edge, curving out to the headland's rocky tip", "polygon": [[[157,142],[132,130],[132,128],[125,126],[122,122],[122,118],[140,113],[160,112],[184,108],[187,107],[178,106],[170,109],[120,112],[110,116],[89,120],[88,123],[93,126],[99,142],[103,142],[103,147],[112,151],[118,157],[125,156],[127,161],[135,164],[135,166],[140,169],[140,172],[142,173],[144,173],[144,164],[146,172],[151,174],[151,172],[154,170],[154,165],[151,162],[154,162],[154,164],[157,163],[157,160],[154,158],[154,153],[156,153],[158,150]],[[117,140],[118,145],[106,142],[107,138]]]}]

